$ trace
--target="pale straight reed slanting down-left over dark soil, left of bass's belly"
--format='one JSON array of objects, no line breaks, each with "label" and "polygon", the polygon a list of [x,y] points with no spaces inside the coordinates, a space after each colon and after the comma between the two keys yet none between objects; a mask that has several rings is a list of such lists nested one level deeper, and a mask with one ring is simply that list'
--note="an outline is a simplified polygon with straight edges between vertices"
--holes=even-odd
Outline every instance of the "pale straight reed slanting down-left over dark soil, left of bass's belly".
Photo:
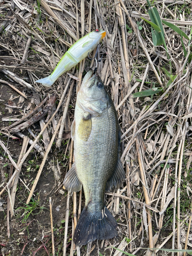
[{"label": "pale straight reed slanting down-left over dark soil, left of bass's belly", "polygon": [[[45,153],[44,159],[42,159],[42,162],[41,162],[41,164],[40,164],[40,167],[39,167],[37,176],[36,176],[36,178],[35,178],[35,181],[34,181],[34,183],[33,183],[32,188],[31,188],[31,192],[30,192],[30,194],[29,194],[29,197],[28,197],[28,199],[27,199],[26,204],[29,204],[29,202],[30,202],[30,200],[31,200],[31,198],[32,198],[32,196],[33,196],[33,192],[34,192],[35,187],[36,187],[36,185],[37,185],[37,183],[38,183],[38,180],[39,180],[39,178],[40,178],[42,169],[44,168],[44,165],[45,165],[45,163],[46,163],[46,160],[47,160],[48,154],[49,154],[49,152],[50,152],[50,150],[51,150],[53,141],[55,140],[55,136],[57,135],[57,132],[58,132],[58,130],[59,130],[60,123],[61,123],[61,118],[60,118],[60,120],[59,120],[58,123],[57,123],[56,129],[55,129],[55,131],[54,131],[54,134],[53,134],[53,136],[52,136],[52,138],[51,138],[51,141],[50,141],[49,146],[48,146],[48,148],[47,148],[47,151],[46,151],[46,153]],[[46,127],[46,126],[45,126],[45,127]],[[45,128],[45,127],[44,127],[44,128]]]}]

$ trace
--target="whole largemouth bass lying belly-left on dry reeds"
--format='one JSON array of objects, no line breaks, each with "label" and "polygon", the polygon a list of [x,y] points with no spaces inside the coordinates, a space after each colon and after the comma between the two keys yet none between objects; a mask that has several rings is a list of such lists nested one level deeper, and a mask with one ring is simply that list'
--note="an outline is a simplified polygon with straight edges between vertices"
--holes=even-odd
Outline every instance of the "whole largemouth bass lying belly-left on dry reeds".
[{"label": "whole largemouth bass lying belly-left on dry reeds", "polygon": [[86,199],[74,233],[77,246],[117,236],[117,222],[104,205],[104,192],[125,179],[115,106],[101,78],[92,75],[92,71],[86,74],[77,95],[71,127],[75,163],[63,182],[69,191],[83,186]]}]

